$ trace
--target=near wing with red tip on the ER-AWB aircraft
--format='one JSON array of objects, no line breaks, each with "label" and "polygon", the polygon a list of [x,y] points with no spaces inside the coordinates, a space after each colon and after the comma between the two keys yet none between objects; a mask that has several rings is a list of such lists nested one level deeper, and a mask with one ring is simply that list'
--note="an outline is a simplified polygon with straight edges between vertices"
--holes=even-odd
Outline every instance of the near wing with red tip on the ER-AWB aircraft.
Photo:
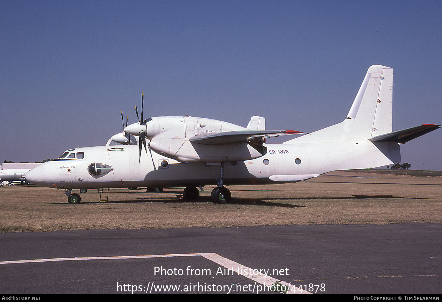
[{"label": "near wing with red tip on the ER-AWB aircraft", "polygon": [[295,130],[281,130],[281,131],[229,131],[213,134],[199,134],[191,137],[189,140],[193,143],[201,143],[204,145],[221,145],[225,143],[247,143],[256,138],[264,138],[270,136],[280,136],[288,134],[301,134],[305,132]]}]

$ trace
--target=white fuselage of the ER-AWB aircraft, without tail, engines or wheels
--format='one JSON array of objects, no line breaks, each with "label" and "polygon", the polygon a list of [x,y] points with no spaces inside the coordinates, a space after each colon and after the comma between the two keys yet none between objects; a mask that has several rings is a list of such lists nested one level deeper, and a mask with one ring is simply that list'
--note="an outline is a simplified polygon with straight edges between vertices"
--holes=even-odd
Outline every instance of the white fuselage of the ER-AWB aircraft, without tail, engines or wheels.
[{"label": "white fuselage of the ER-AWB aircraft, without tail, engines or wheels", "polygon": [[[224,162],[224,184],[296,182],[333,170],[369,168],[373,166],[365,158],[379,151],[368,140],[265,147],[267,154],[258,159]],[[219,162],[183,163],[149,151],[143,151],[140,159],[137,145],[81,147],[67,152],[64,158],[32,169],[27,181],[64,189],[184,187],[215,185],[220,175]],[[383,162],[391,161],[385,158]]]}]

